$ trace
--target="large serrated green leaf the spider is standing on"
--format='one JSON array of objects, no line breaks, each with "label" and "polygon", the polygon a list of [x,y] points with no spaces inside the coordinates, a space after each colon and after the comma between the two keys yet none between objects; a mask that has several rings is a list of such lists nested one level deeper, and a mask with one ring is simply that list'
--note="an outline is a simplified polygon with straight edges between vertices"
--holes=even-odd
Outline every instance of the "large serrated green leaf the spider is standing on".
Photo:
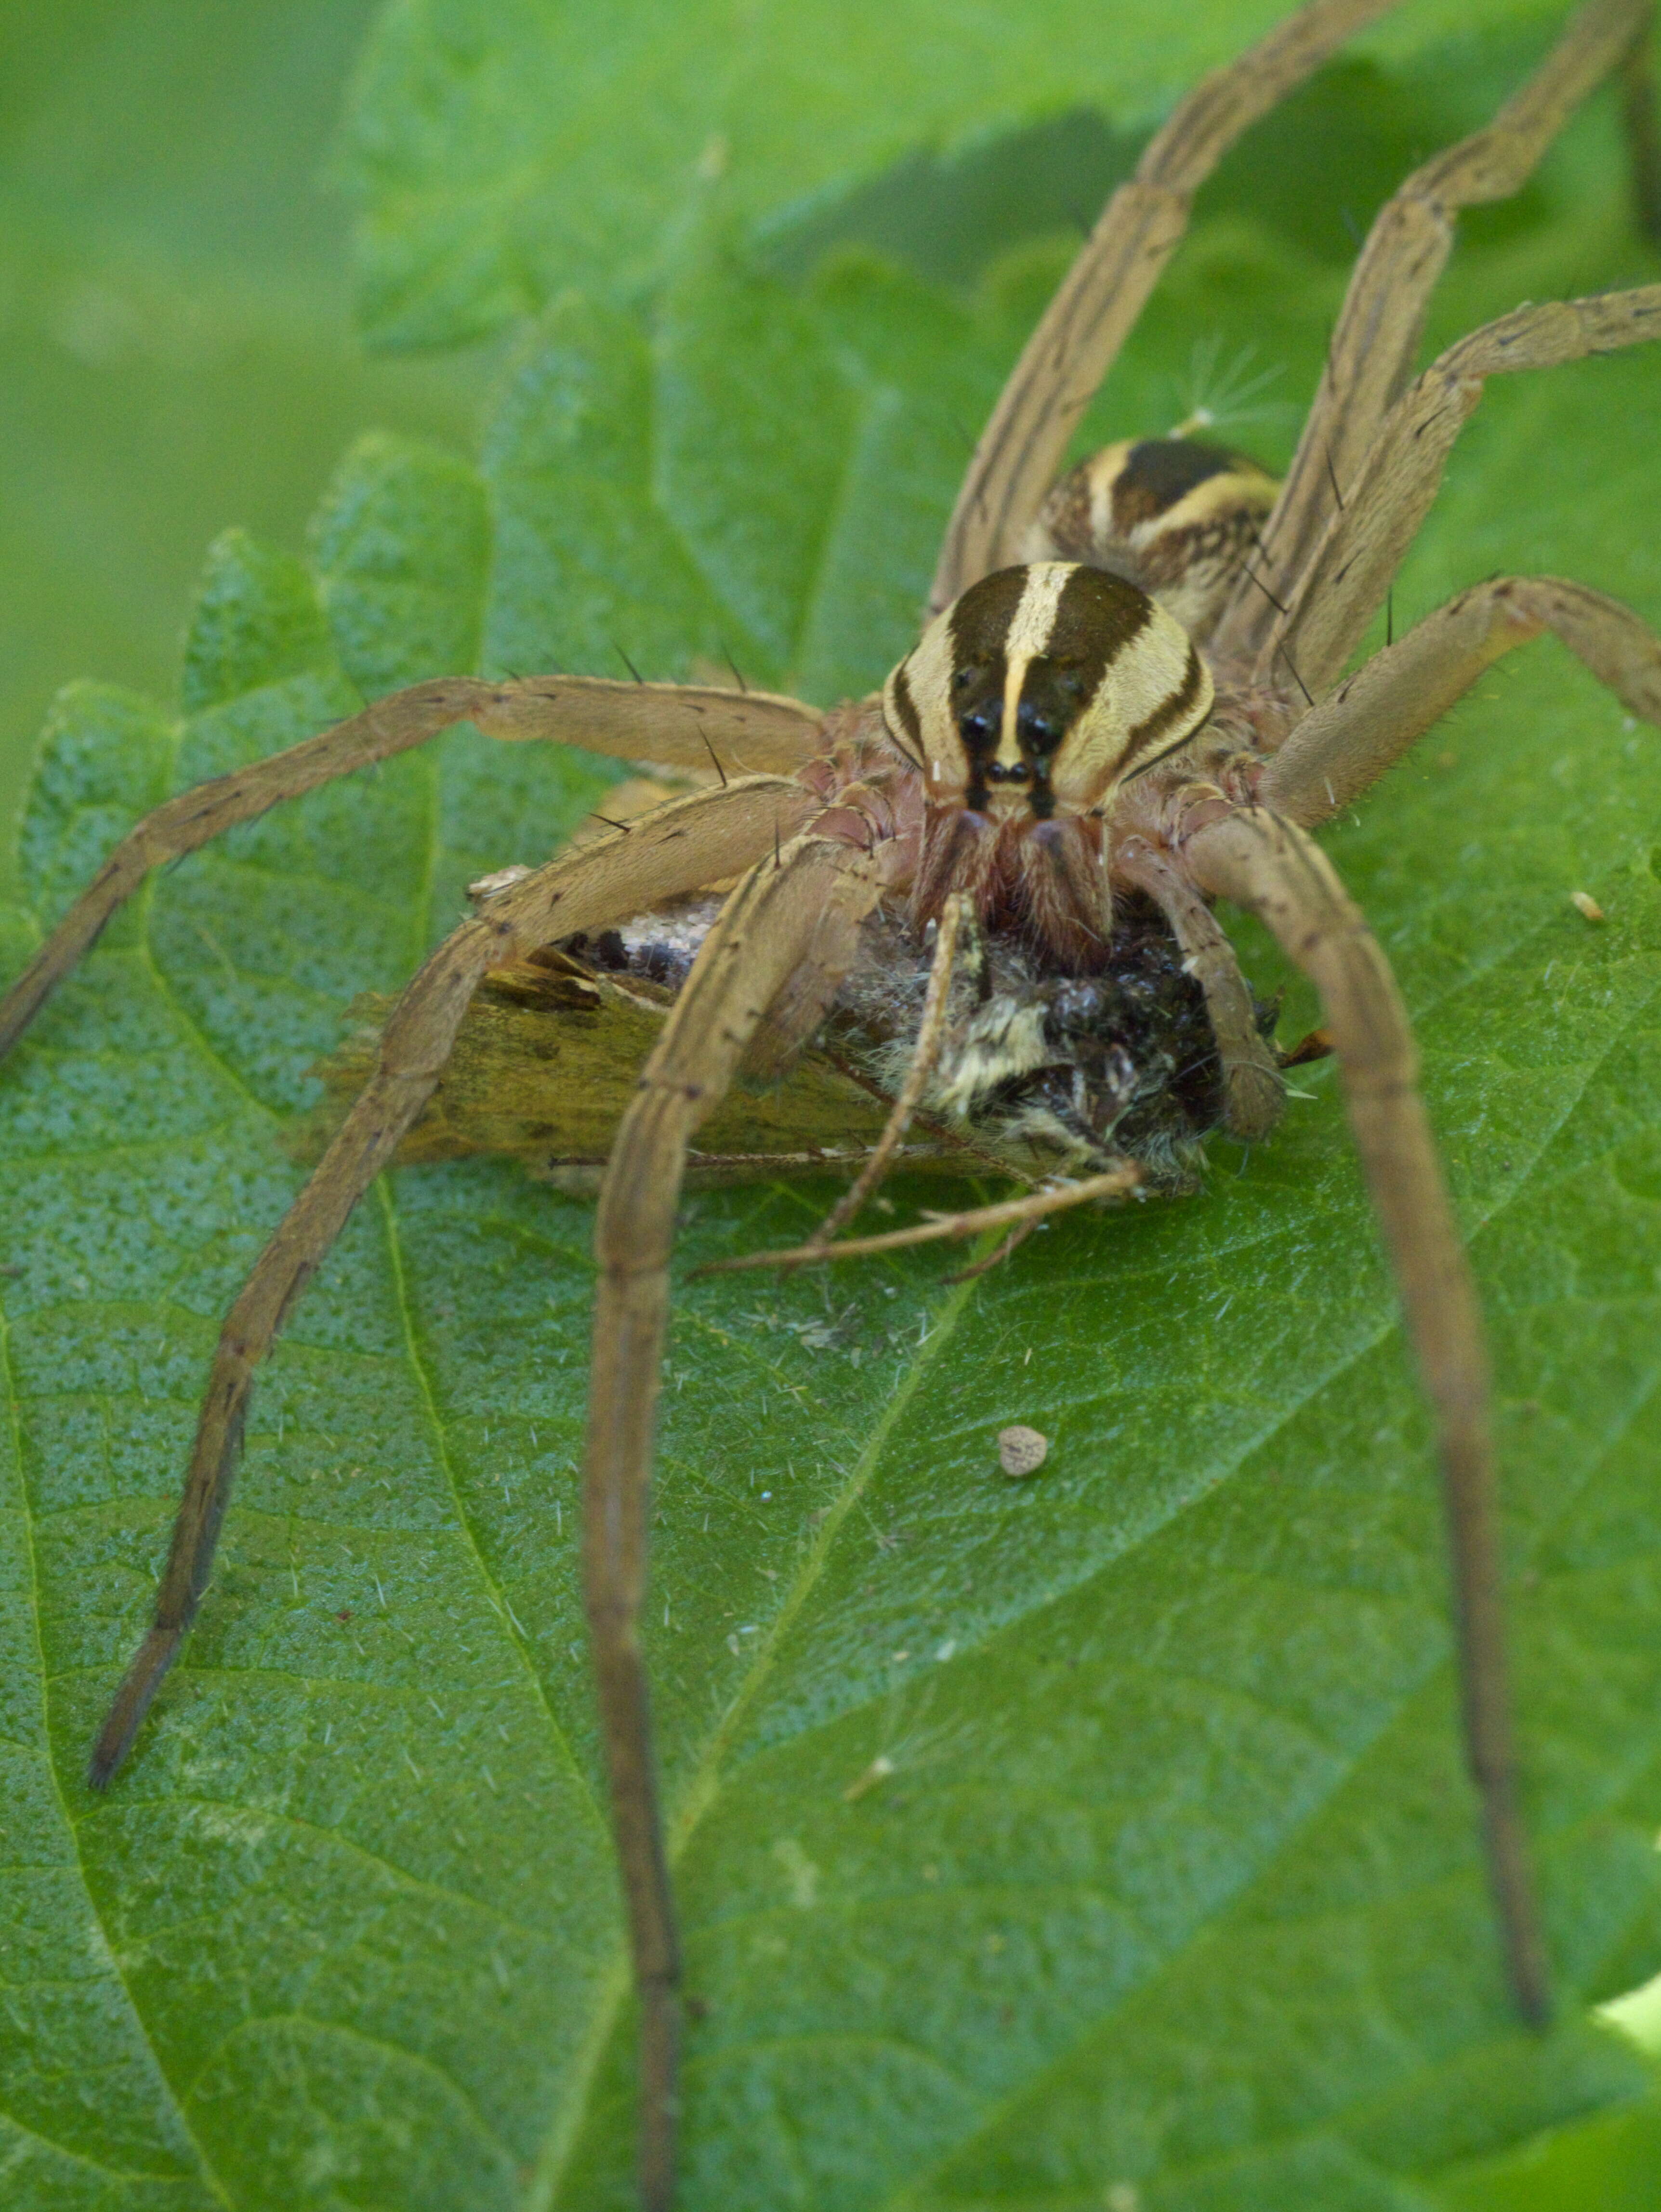
[{"label": "large serrated green leaf the spider is standing on", "polygon": [[[1466,128],[1502,53],[1400,80],[1396,115]],[[1305,157],[1343,201],[1349,155]],[[1438,332],[1648,274],[1621,190],[1597,108]],[[1276,192],[1247,159],[1101,425],[1163,429],[1230,369],[1312,389],[1340,279]],[[221,542],[188,712],[64,699],[0,947],[164,790],[438,664],[878,679],[953,418],[1059,265],[1028,248],[962,296],[878,243],[785,283],[688,228],[650,316],[566,296],[526,334],[480,471],[374,442],[310,573]],[[1497,385],[1398,624],[1495,566],[1661,619],[1654,392],[1643,354]],[[1225,427],[1272,460],[1292,436]],[[491,1161],[376,1188],[261,1380],[137,1756],[82,1785],[219,1316],[299,1181],[307,1064],[469,876],[542,858],[613,774],[458,730],[276,810],[157,874],[0,1075],[0,2170],[27,2212],[630,2201],[575,1595],[588,1206]],[[1491,1314],[1557,2031],[1506,2006],[1427,1422],[1314,1068],[1203,1197],[1062,1219],[980,1281],[911,1254],[681,1287],[650,1661],[699,2000],[688,2208],[1654,2201],[1652,2068],[1584,2006],[1661,1949],[1659,825],[1654,734],[1533,648],[1329,838],[1420,1024]],[[1285,1031],[1312,1018],[1292,982]],[[792,1239],[827,1197],[694,1197],[686,1256]],[[1033,1482],[997,1473],[1009,1420],[1051,1438]]]}]

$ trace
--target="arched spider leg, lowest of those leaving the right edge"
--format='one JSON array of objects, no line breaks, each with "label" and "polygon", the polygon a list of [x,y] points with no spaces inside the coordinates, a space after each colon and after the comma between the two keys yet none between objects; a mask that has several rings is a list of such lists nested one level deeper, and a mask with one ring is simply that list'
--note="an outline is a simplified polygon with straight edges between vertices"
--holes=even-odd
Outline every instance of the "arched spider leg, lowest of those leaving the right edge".
[{"label": "arched spider leg, lowest of those leaving the right edge", "polygon": [[1555,575],[1506,575],[1449,599],[1296,726],[1256,796],[1305,830],[1329,821],[1502,653],[1550,630],[1630,714],[1661,726],[1661,639],[1619,599]]}]

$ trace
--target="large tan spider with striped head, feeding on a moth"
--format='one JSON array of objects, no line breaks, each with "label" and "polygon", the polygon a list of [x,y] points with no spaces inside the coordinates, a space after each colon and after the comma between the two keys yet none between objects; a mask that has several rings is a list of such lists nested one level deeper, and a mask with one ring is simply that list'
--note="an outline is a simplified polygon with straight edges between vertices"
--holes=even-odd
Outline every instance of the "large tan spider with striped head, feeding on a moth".
[{"label": "large tan spider with striped head, feeding on a moth", "polygon": [[[863,1144],[856,1197],[913,1113],[947,1146],[1048,1177],[953,1228],[1020,1230],[1128,1188],[1137,1161],[1155,1179],[1181,1175],[1208,1124],[1263,1137],[1281,1110],[1278,1057],[1212,918],[1216,898],[1258,914],[1320,991],[1435,1413],[1466,1743],[1504,1955],[1519,2011],[1548,2013],[1506,1703],[1475,1296],[1396,984],[1309,832],[1542,630],[1632,714],[1661,723],[1661,644],[1615,599],[1557,577],[1477,584],[1345,675],[1484,380],[1661,336],[1661,285],[1648,285],[1519,307],[1413,374],[1458,210],[1515,192],[1608,71],[1630,71],[1641,113],[1648,7],[1586,7],[1491,128],[1427,161],[1385,206],[1283,484],[1177,438],[1108,447],[1057,482],[1197,186],[1385,4],[1314,0],[1205,80],[1152,139],[993,411],[947,526],[931,619],[880,695],[821,712],[595,677],[418,684],[150,814],[0,1009],[4,1048],[150,867],[458,719],[688,772],[714,763],[719,781],[484,891],[398,1000],[369,1079],[226,1321],[155,1626],[91,1765],[104,1787],[197,1610],[259,1360],[433,1097],[478,987],[537,958],[621,973],[630,947],[650,964],[657,940],[679,931],[694,958],[664,987],[672,1004],[599,1194],[584,1489],[584,1588],[641,2004],[648,2208],[675,2188],[679,1962],[637,1624],[668,1259],[692,1139],[737,1077],[783,1075],[827,1022],[865,1037],[845,1057],[894,1099],[882,1137]],[[699,918],[699,894],[730,878],[737,889]],[[889,1029],[871,1042],[882,991]],[[1137,993],[1139,1029],[1126,1013]],[[1172,1046],[1183,1022],[1197,1024],[1208,1064],[1188,1097],[1188,1046]],[[847,1212],[783,1256],[854,1250],[832,1241]]]}]

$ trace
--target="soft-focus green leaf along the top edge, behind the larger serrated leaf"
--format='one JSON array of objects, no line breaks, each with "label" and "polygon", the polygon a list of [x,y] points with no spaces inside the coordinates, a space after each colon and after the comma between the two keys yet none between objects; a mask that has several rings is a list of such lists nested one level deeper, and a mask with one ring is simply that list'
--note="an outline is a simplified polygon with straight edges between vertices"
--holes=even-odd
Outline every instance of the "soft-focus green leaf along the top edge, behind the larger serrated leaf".
[{"label": "soft-focus green leaf along the top edge, behind the larger serrated leaf", "polygon": [[[1095,0],[387,0],[341,148],[363,208],[365,327],[383,345],[478,338],[571,281],[635,288],[714,184],[750,221],[812,219],[891,161],[913,170],[920,146],[960,153],[1020,124],[1037,124],[1040,159],[1011,166],[1013,201],[1068,223],[1079,192],[1124,168],[1112,135],[1079,139],[1082,111],[1139,135],[1283,13],[1278,0],[1106,15]],[[1400,58],[1557,13],[1422,0],[1349,51]],[[1055,173],[1057,119],[1070,175]],[[1011,192],[995,197],[982,215],[1006,223]]]}]

